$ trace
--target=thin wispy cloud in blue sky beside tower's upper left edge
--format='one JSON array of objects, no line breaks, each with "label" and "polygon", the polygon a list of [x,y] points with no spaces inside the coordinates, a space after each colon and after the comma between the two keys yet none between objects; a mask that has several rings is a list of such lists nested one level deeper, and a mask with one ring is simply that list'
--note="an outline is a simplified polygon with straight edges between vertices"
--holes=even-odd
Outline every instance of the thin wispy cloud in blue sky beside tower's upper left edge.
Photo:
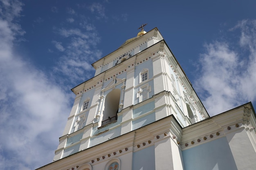
[{"label": "thin wispy cloud in blue sky beside tower's upper left edge", "polygon": [[61,28],[57,31],[62,38],[68,39],[65,55],[58,61],[55,73],[69,77],[68,82],[81,83],[93,76],[94,68],[91,63],[101,56],[101,51],[96,49],[100,38],[97,33],[82,32],[80,29]]}]

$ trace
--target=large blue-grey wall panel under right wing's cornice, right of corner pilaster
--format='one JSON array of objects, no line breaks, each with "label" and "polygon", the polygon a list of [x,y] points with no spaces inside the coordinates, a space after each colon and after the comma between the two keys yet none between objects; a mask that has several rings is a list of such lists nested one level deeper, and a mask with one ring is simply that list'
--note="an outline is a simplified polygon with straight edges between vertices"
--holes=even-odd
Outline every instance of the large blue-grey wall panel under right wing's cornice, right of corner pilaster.
[{"label": "large blue-grey wall panel under right wing's cornice, right of corner pilaster", "polygon": [[226,137],[182,151],[185,170],[237,170]]}]

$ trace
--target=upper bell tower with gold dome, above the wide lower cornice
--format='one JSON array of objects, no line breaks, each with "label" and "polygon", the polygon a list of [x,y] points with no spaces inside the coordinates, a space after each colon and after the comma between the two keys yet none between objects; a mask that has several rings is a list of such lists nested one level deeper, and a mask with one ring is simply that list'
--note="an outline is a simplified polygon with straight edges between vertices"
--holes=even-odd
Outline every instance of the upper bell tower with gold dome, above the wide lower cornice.
[{"label": "upper bell tower with gold dome, above the wide lower cornice", "polygon": [[158,29],[126,40],[72,88],[76,97],[54,160],[173,115],[182,127],[209,117]]}]

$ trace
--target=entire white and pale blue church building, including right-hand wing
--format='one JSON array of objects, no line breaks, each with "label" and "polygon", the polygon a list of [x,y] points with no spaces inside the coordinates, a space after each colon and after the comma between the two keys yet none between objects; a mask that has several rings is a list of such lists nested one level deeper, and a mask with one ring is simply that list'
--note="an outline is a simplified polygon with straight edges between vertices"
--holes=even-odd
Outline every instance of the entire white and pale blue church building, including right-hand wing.
[{"label": "entire white and pale blue church building, including right-hand wing", "polygon": [[[54,161],[38,170],[240,170],[240,156],[255,158],[252,104],[210,118],[158,29],[145,25],[72,88]],[[237,140],[249,142],[247,154]]]}]

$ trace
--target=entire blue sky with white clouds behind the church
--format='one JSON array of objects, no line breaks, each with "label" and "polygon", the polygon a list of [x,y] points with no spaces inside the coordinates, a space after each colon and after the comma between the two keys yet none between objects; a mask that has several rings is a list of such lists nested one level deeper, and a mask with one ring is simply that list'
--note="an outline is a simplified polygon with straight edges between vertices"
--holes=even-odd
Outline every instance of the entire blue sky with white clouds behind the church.
[{"label": "entire blue sky with white clouds behind the church", "polygon": [[256,107],[255,0],[0,0],[0,167],[52,162],[91,64],[157,27],[213,116]]}]

